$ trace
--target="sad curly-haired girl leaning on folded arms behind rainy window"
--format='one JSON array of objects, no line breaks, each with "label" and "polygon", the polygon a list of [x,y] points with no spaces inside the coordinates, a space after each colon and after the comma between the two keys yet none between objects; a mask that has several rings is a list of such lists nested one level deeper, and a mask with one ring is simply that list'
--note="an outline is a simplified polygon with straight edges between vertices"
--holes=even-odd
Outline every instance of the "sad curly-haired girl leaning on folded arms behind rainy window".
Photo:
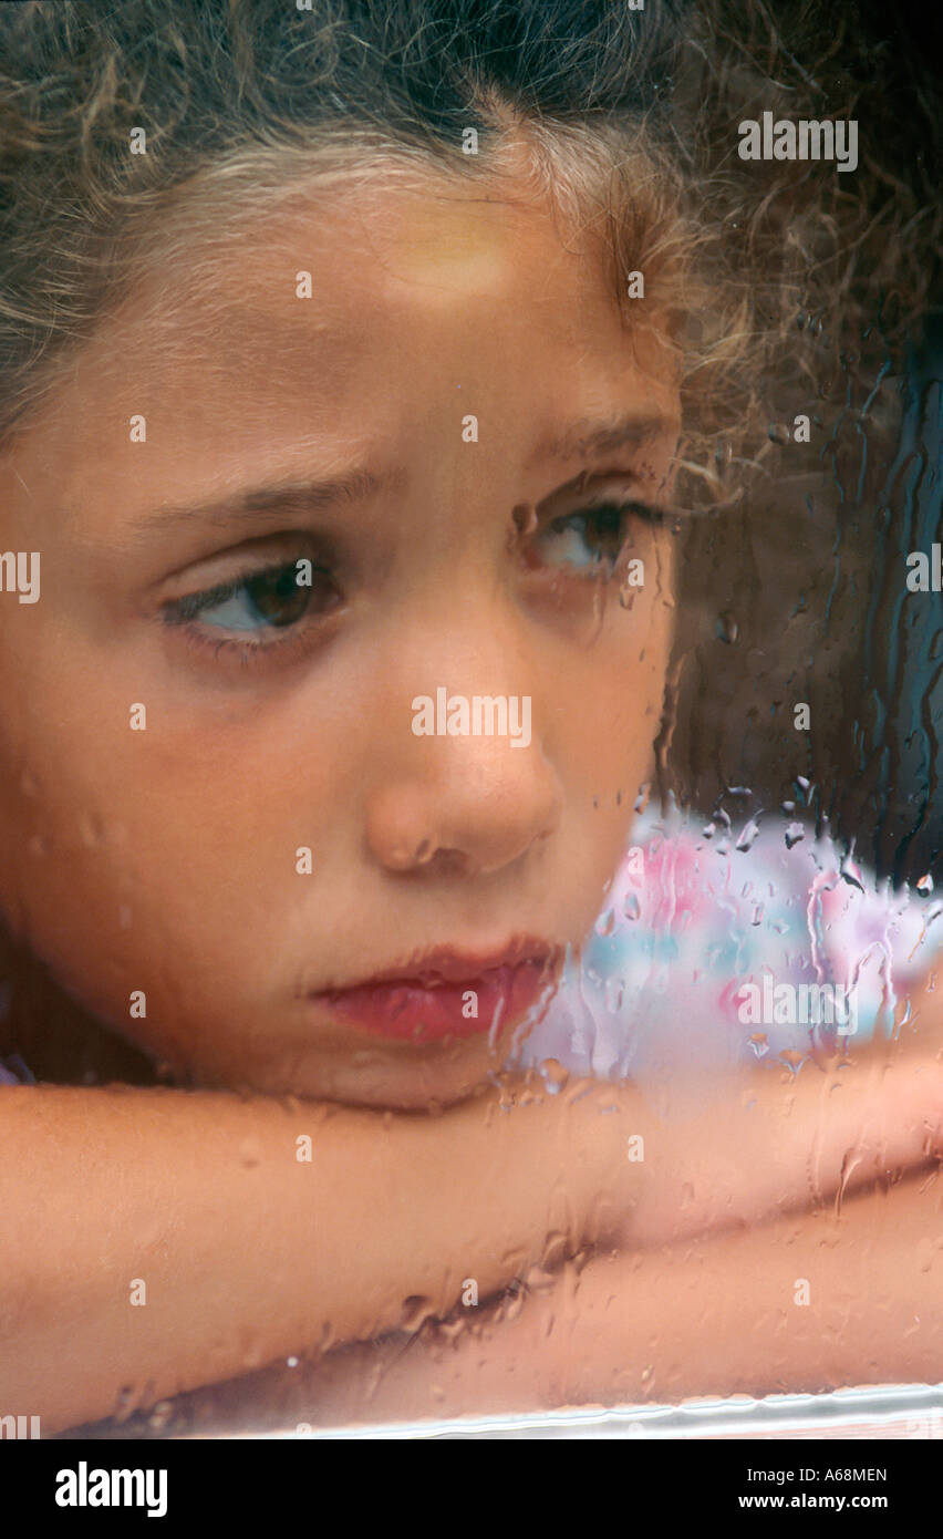
[{"label": "sad curly-haired girl leaning on folded arms behind rainy window", "polygon": [[[938,1227],[921,996],[905,1028],[881,986],[891,1040],[800,1030],[783,1073],[738,1063],[737,1016],[728,1074],[669,1053],[648,1083],[631,990],[574,1019],[606,894],[600,942],[634,896],[665,931],[635,814],[678,542],[763,463],[763,368],[849,229],[825,168],[792,206],[734,174],[745,109],[705,143],[723,8],[0,25],[3,546],[38,562],[34,603],[0,594],[3,1410],[165,1425],[182,1391],[402,1333],[385,1393],[417,1414],[491,1408],[506,1373],[531,1407],[723,1388],[731,1324],[677,1374],[665,1300],[688,1345],[692,1277],[726,1305],[749,1276],[740,1320],[792,1311],[795,1276],[846,1308],[834,1250],[783,1276],[777,1225],[818,1237],[855,1191],[838,1237],[860,1256],[892,1207],[908,1324],[852,1287],[825,1376],[940,1377],[932,1257],[901,1265]],[[755,88],[714,80],[723,112]],[[888,282],[863,242],[851,314]],[[546,1291],[481,1354],[523,1277]],[[765,1390],[809,1380],[797,1314]],[[449,1316],[446,1391],[420,1327]],[[365,1413],[357,1351],[295,1416]]]}]

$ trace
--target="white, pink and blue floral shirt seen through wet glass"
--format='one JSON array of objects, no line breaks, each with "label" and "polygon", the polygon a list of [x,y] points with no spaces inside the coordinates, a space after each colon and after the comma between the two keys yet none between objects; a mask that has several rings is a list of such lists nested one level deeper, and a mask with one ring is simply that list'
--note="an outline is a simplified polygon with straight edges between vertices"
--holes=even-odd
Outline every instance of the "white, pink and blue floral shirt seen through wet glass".
[{"label": "white, pink and blue floral shirt seen through wet glass", "polygon": [[555,1057],[611,1079],[757,1059],[798,1068],[894,1030],[943,939],[931,879],[894,893],[778,816],[705,822],[640,819],[526,1063]]}]

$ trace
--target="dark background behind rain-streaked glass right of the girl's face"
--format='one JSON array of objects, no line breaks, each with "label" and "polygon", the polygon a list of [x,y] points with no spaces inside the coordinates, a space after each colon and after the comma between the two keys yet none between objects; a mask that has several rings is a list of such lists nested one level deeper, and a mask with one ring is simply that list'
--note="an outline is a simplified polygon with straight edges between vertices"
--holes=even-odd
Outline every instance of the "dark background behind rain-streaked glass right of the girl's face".
[{"label": "dark background behind rain-streaked glass right of the girl's face", "polygon": [[[777,20],[789,9],[772,6]],[[914,94],[935,102],[941,123],[940,14],[912,3],[835,14],[852,18],[874,60],[860,154],[938,197],[940,134],[914,112]],[[938,271],[937,248],[926,263]],[[931,292],[908,352],[880,382],[877,371],[849,380],[846,399],[840,385],[771,400],[771,423],[812,417],[811,446],[777,446],[748,505],[686,537],[663,774],[683,805],[720,805],[735,825],[794,800],[795,816],[854,840],[895,883],[943,880],[943,594],[906,588],[906,554],[943,540],[943,294]],[[800,700],[808,733],[792,725]]]}]

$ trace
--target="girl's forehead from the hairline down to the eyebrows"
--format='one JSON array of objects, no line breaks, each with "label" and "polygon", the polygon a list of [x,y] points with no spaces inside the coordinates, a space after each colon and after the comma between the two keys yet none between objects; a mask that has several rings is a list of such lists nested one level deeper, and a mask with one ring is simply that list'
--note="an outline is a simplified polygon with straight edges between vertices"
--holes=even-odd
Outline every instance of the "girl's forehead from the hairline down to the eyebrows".
[{"label": "girl's forehead from the hairline down to the eyebrows", "polygon": [[49,399],[54,463],[25,479],[52,479],[60,505],[92,505],[102,477],[120,480],[122,505],[154,488],[185,503],[312,462],[422,462],[465,412],[483,422],[483,459],[517,460],[575,420],[640,406],[677,425],[674,369],[657,329],[625,325],[591,231],[508,186],[374,175],[209,234],[183,208],[74,356]]}]

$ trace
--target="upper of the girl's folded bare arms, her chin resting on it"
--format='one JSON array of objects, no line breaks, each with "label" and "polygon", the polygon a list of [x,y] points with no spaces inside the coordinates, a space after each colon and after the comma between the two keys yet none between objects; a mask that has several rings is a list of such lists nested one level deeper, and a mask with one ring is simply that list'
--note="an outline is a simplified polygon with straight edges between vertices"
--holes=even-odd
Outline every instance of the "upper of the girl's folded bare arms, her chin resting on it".
[{"label": "upper of the girl's folded bare arms, her chin resting on it", "polygon": [[585,1242],[803,1207],[928,1159],[941,1085],[923,1060],[795,1087],[766,1074],[721,1116],[675,1123],[600,1083],[549,1097],[517,1082],[511,1110],[489,1091],[442,1117],[8,1090],[0,1399],[52,1431],[111,1414],[128,1387],[149,1402],[378,1336],[406,1300],[414,1325],[442,1317],[466,1277],[486,1297]]}]

